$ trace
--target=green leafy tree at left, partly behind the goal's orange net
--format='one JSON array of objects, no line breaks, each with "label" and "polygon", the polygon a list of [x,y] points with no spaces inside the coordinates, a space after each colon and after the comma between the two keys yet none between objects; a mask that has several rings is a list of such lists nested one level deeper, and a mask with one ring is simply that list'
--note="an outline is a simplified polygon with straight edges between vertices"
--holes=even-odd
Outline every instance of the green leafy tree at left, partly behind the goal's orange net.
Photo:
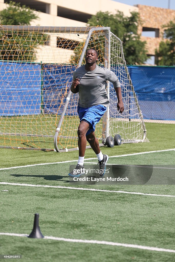
[{"label": "green leafy tree at left, partly behind the goal's orange net", "polygon": [[[7,8],[0,11],[0,22],[4,25],[30,25],[38,19],[34,10],[10,1]],[[35,48],[43,44],[46,37],[24,31],[0,31],[0,59],[3,61],[34,61]]]}]

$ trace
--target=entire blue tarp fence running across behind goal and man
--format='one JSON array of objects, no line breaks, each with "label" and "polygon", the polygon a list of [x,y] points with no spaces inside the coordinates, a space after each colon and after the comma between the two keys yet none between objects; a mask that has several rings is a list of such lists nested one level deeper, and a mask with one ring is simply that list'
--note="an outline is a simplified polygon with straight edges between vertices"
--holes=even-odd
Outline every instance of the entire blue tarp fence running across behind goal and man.
[{"label": "entire blue tarp fence running across behind goal and man", "polygon": [[[175,67],[128,69],[144,118],[175,120]],[[0,116],[39,114],[41,109],[61,114],[74,70],[73,65],[0,62]],[[120,70],[124,73],[124,68]],[[128,81],[126,75],[118,77],[121,82],[124,78]],[[74,95],[70,104],[68,114],[75,115]],[[134,108],[130,106],[130,110],[132,114]]]}]

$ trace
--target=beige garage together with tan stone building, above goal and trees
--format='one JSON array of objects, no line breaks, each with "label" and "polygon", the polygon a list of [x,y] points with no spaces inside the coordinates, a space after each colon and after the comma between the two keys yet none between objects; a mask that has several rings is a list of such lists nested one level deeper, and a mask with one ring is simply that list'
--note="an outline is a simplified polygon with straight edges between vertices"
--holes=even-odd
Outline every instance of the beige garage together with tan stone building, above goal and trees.
[{"label": "beige garage together with tan stone building, above goal and trees", "polygon": [[[142,40],[147,42],[148,55],[152,56],[152,64],[155,63],[155,48],[159,47],[162,40],[162,25],[175,19],[175,10],[143,5],[130,6],[112,0],[89,0],[88,2],[82,0],[13,1],[35,9],[39,20],[32,21],[31,25],[42,26],[86,26],[87,20],[98,11],[115,13],[116,10],[119,10],[125,16],[129,16],[132,11],[139,12],[142,19],[139,34],[142,35]],[[6,8],[8,2],[9,0],[0,0],[0,10]]]}]

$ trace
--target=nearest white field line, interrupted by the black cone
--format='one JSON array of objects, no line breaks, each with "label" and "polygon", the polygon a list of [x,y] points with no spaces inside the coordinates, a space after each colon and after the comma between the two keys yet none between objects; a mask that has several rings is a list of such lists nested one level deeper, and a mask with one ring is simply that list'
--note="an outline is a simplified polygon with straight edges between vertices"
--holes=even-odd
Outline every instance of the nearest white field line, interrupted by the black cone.
[{"label": "nearest white field line, interrupted by the black cone", "polygon": [[[28,237],[27,234],[15,234],[15,233],[0,233],[0,235],[15,236],[15,237]],[[139,248],[139,249],[158,251],[158,252],[175,253],[175,250],[173,250],[173,249],[165,249],[165,248],[158,248],[158,247],[147,247],[147,246],[142,246],[142,245],[123,244],[123,243],[108,242],[108,241],[71,239],[71,238],[52,237],[52,236],[50,236],[50,237],[45,236],[44,239],[51,239],[51,240],[65,241],[65,242],[74,242],[74,243],[112,245],[112,246],[119,246],[119,247]]]}]

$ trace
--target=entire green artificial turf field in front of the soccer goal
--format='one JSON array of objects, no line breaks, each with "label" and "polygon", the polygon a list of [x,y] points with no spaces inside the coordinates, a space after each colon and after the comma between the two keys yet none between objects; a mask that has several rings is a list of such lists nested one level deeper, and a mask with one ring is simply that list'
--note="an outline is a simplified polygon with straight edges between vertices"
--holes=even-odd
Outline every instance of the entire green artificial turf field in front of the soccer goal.
[{"label": "entire green artificial turf field in front of the soccer goal", "polygon": [[[149,143],[102,147],[102,152],[116,156],[175,148],[173,124],[146,123],[146,128]],[[0,155],[0,168],[78,159],[78,151],[56,153],[0,149]],[[87,149],[85,158],[91,157],[96,156],[92,149]],[[108,163],[173,165],[174,159],[175,151],[172,150],[110,157]],[[97,163],[97,159],[89,161]],[[149,184],[149,181],[145,185],[76,185],[70,183],[68,177],[70,164],[76,163],[75,161],[0,170],[0,182],[175,195],[174,181],[172,185]],[[34,214],[38,212],[40,229],[45,236],[175,249],[174,197],[0,184],[0,199],[0,232],[29,234],[33,228]],[[24,262],[174,261],[174,253],[167,252],[26,237],[0,238],[0,254],[20,254],[20,261]]]}]

